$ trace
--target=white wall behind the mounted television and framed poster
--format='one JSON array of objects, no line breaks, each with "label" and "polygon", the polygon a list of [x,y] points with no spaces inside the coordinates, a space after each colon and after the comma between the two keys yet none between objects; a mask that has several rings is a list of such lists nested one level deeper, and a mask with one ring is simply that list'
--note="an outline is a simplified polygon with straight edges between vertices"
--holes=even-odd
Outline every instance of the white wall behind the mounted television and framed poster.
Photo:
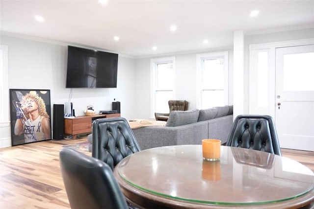
[{"label": "white wall behind the mounted television and framed poster", "polygon": [[[52,109],[53,104],[68,101],[70,89],[65,88],[67,45],[9,36],[0,38],[1,45],[8,46],[9,89],[48,89],[51,91]],[[121,116],[127,119],[136,117],[134,75],[135,60],[119,55],[117,88],[73,89],[71,102],[76,115],[84,115],[86,106],[90,104],[96,112],[111,110],[111,102],[115,98],[121,102]]]}]

